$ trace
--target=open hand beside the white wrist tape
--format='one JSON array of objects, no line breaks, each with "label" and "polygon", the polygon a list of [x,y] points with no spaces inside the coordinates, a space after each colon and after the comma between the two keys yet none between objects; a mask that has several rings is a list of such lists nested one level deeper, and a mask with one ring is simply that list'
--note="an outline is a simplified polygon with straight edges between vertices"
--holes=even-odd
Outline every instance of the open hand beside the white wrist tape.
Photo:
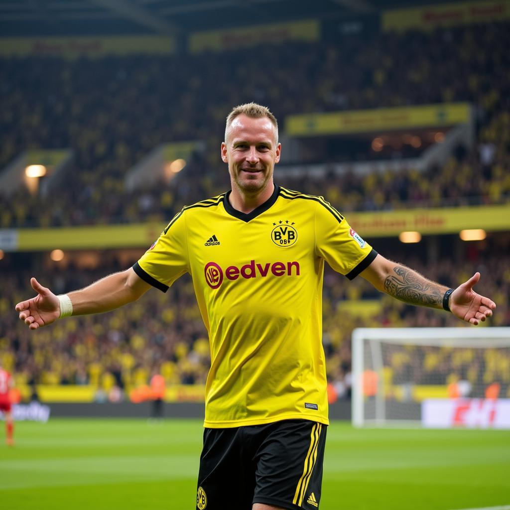
[{"label": "open hand beside the white wrist tape", "polygon": [[16,304],[16,312],[19,312],[19,318],[30,329],[37,329],[47,326],[59,318],[60,303],[58,297],[43,287],[35,278],[30,279],[30,284],[37,292],[37,296]]}]

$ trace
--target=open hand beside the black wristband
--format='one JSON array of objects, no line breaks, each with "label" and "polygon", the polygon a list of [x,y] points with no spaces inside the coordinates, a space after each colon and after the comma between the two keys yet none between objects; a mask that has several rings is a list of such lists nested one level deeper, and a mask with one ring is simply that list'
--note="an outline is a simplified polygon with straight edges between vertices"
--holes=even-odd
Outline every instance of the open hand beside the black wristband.
[{"label": "open hand beside the black wristband", "polygon": [[480,273],[476,272],[467,282],[458,286],[450,296],[451,313],[475,326],[487,317],[492,317],[492,311],[496,308],[494,301],[480,296],[473,290],[479,279]]}]

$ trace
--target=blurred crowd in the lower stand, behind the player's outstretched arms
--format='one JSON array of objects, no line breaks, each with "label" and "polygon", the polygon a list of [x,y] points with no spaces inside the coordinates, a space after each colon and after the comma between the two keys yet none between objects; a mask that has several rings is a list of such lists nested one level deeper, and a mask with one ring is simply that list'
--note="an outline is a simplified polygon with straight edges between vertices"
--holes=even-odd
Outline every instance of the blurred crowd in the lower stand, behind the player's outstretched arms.
[{"label": "blurred crowd in the lower stand, behind the player's outstretched arms", "polygon": [[[374,245],[377,247],[377,243]],[[510,324],[510,269],[500,270],[510,268],[508,253],[492,253],[488,248],[480,251],[476,260],[460,264],[444,259],[433,265],[417,257],[405,260],[403,253],[391,253],[391,257],[452,286],[465,281],[475,266],[482,272],[483,292],[498,303],[491,325]],[[86,271],[55,266],[44,271],[41,281],[60,293],[86,286],[119,269],[116,264]],[[17,384],[90,384],[106,392],[118,388],[129,393],[146,384],[154,370],[161,371],[167,384],[205,382],[209,342],[188,276],[166,294],[151,290],[117,311],[65,319],[34,333],[18,327],[16,314],[11,313],[12,302],[27,294],[32,273],[27,269],[9,271],[0,288],[0,351],[4,366],[13,370]],[[388,296],[381,298],[363,278],[348,282],[330,269],[324,277],[323,309],[327,374],[330,381],[337,382],[344,381],[350,372],[354,327],[462,325],[442,311],[411,307]],[[399,363],[397,371],[404,362]],[[451,374],[443,375],[446,379]]]}]

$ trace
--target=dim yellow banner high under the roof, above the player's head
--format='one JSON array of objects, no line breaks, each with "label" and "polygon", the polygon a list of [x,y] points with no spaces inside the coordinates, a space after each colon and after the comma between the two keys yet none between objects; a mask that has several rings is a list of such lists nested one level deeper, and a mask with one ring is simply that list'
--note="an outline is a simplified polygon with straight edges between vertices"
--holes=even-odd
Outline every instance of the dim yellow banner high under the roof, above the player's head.
[{"label": "dim yellow banner high under the roof, above the player's head", "polygon": [[320,23],[316,19],[260,25],[230,30],[196,32],[188,39],[190,53],[257,46],[259,44],[282,44],[291,40],[317,41],[320,38]]}]

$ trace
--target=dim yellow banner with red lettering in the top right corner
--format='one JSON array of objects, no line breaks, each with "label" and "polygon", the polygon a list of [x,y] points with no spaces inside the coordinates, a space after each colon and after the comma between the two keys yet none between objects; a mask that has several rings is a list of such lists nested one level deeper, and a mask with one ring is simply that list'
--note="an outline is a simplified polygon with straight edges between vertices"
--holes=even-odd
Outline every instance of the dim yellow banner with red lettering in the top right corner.
[{"label": "dim yellow banner with red lettering in the top right corner", "polygon": [[479,0],[452,4],[394,9],[382,13],[382,30],[433,30],[469,23],[482,23],[510,18],[510,2]]}]

